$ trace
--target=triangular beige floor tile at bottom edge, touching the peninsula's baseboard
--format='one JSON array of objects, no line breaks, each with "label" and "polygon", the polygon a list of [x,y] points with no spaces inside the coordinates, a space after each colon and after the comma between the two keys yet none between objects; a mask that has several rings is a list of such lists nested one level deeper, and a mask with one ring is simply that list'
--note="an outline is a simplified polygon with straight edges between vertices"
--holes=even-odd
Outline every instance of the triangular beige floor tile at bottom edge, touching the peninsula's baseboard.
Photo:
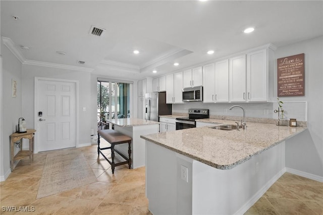
[{"label": "triangular beige floor tile at bottom edge, touching the peninsula's baseboard", "polygon": [[279,215],[274,206],[265,198],[261,197],[244,215]]}]

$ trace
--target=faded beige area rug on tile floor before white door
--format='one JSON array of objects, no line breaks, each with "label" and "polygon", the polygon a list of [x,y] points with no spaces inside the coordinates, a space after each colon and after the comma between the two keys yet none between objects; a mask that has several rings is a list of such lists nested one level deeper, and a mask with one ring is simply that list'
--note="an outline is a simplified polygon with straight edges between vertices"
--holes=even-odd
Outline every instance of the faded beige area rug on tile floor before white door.
[{"label": "faded beige area rug on tile floor before white door", "polygon": [[96,181],[92,169],[79,151],[47,154],[37,199]]}]

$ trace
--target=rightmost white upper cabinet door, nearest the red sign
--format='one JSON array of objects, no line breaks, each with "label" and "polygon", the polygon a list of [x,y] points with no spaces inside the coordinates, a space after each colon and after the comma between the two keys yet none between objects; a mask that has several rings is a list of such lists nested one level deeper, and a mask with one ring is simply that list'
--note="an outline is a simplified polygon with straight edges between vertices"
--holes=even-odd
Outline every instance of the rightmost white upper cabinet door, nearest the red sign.
[{"label": "rightmost white upper cabinet door, nearest the red sign", "polygon": [[267,49],[247,54],[247,99],[250,102],[267,101]]}]

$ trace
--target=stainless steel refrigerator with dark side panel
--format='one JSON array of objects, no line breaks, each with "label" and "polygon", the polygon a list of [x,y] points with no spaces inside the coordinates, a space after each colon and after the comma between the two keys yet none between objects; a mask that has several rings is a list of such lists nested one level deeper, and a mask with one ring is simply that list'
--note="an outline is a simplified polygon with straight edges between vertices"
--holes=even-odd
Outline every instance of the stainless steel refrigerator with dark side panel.
[{"label": "stainless steel refrigerator with dark side panel", "polygon": [[145,94],[145,119],[159,121],[161,115],[172,114],[172,104],[166,104],[166,92]]}]

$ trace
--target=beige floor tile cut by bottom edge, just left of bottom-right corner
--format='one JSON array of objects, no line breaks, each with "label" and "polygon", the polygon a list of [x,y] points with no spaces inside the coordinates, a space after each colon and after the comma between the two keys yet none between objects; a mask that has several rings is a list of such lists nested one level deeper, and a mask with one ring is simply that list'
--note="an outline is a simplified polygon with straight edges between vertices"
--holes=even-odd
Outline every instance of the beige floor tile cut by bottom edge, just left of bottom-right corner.
[{"label": "beige floor tile cut by bottom edge, just left of bottom-right corner", "polygon": [[280,214],[314,214],[314,211],[301,200],[270,197],[267,197],[267,199]]}]

